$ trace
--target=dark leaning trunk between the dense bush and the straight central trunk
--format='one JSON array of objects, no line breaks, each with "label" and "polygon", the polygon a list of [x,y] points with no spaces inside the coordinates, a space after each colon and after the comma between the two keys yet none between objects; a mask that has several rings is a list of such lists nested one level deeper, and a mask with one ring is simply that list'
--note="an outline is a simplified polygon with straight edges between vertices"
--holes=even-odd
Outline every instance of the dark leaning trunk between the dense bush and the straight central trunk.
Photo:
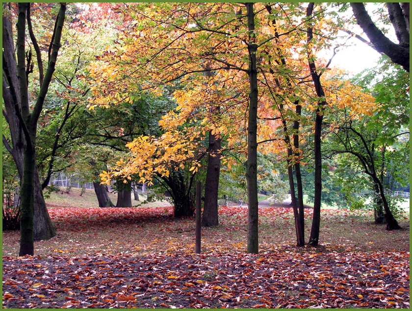
[{"label": "dark leaning trunk between the dense bush and the straight central trunk", "polygon": [[[217,135],[216,135],[217,136]],[[219,225],[217,199],[220,174],[220,137],[212,135],[209,131],[209,155],[205,183],[205,202],[203,205],[202,226],[210,227]]]}]

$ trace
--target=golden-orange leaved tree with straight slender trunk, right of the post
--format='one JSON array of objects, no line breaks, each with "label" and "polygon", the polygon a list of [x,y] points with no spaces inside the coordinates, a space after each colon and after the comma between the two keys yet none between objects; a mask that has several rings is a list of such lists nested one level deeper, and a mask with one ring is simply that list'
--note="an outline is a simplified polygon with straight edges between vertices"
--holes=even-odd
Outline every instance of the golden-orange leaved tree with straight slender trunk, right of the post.
[{"label": "golden-orange leaved tree with straight slender trunk, right of the post", "polygon": [[[256,253],[258,147],[265,152],[279,152],[285,140],[276,135],[276,129],[282,128],[282,119],[292,120],[292,128],[286,128],[286,136],[290,137],[286,139],[288,158],[289,164],[299,164],[299,136],[307,119],[302,111],[318,116],[323,113],[319,102],[326,95],[317,94],[308,78],[313,65],[315,81],[320,81],[328,66],[314,66],[314,47],[317,51],[328,45],[325,36],[319,35],[318,40],[309,37],[305,47],[299,30],[317,20],[325,25],[320,14],[323,10],[304,18],[304,8],[298,4],[287,4],[272,12],[253,3],[126,5],[125,11],[134,20],[133,27],[119,37],[121,44],[108,48],[91,69],[96,77],[93,105],[133,100],[131,90],[150,89],[162,94],[165,85],[179,83],[182,87],[173,93],[176,109],[159,122],[162,135],[144,136],[129,143],[132,157],[119,161],[114,171],[103,172],[104,181],[136,173],[141,174],[141,181],[150,181],[153,174],[168,176],[171,163],[185,167],[188,160],[194,160],[190,169],[197,172],[200,163],[196,157],[205,153],[199,141],[210,132],[225,143],[221,146],[222,164],[231,164],[225,159],[225,149],[247,154],[248,252]],[[276,19],[279,24],[272,23]],[[337,31],[334,27],[332,33]],[[286,56],[290,58],[287,62]],[[205,77],[205,71],[213,75]],[[102,89],[101,85],[110,88]],[[210,113],[211,108],[219,108],[220,116]],[[303,192],[299,192],[302,198]],[[303,208],[303,200],[299,205]],[[303,219],[303,211],[300,215]]]}]

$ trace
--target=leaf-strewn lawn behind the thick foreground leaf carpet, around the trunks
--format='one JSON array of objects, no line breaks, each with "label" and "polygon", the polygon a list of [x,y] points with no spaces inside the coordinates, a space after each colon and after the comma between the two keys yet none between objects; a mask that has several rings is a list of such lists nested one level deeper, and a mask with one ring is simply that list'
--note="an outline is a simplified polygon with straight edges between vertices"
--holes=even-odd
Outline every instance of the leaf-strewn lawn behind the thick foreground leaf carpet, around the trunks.
[{"label": "leaf-strewn lawn behind the thick foreground leaf carpet, around the trunks", "polygon": [[[63,188],[63,190],[65,190]],[[80,255],[101,253],[164,252],[170,248],[194,250],[194,218],[174,219],[166,201],[133,201],[135,208],[98,208],[93,190],[72,188],[46,199],[57,228],[56,237],[35,243],[35,254],[62,251]],[[110,194],[116,202],[116,194]],[[86,207],[89,204],[89,207]],[[75,207],[78,206],[78,207]],[[309,238],[311,209],[305,209],[305,237]],[[259,249],[295,249],[293,213],[289,207],[259,209]],[[403,230],[386,231],[373,222],[370,211],[322,209],[320,248],[369,251],[409,251],[409,213],[398,222]],[[244,253],[247,241],[247,207],[220,207],[220,225],[202,228],[202,247],[208,250],[233,250]],[[3,255],[15,255],[19,249],[18,232],[3,232]],[[310,249],[310,248],[305,248]],[[297,250],[300,250],[299,248]]]}]

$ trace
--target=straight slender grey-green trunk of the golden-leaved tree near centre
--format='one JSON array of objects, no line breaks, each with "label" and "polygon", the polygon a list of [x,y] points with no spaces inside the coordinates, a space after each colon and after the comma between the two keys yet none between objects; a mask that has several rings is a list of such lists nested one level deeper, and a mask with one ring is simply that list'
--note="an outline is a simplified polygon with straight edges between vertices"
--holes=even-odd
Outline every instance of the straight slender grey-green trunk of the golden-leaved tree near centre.
[{"label": "straight slender grey-green trunk of the golden-leaved tree near centre", "polygon": [[253,3],[245,3],[249,30],[249,117],[248,117],[248,159],[246,179],[248,185],[248,254],[258,254],[258,70],[255,38],[255,13]]}]

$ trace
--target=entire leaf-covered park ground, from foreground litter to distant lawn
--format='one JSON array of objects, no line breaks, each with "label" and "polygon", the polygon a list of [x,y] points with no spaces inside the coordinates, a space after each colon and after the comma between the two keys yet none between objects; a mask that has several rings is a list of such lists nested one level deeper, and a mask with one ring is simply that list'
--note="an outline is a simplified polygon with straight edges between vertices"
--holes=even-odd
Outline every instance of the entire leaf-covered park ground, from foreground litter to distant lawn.
[{"label": "entire leaf-covered park ground, from foreground litter to distant lawn", "polygon": [[34,256],[3,231],[3,308],[409,308],[409,213],[386,231],[369,211],[324,209],[320,245],[297,248],[291,208],[260,206],[259,254],[246,254],[247,207],[222,206],[199,255],[194,218],[170,203],[85,195],[48,199],[57,234]]}]

